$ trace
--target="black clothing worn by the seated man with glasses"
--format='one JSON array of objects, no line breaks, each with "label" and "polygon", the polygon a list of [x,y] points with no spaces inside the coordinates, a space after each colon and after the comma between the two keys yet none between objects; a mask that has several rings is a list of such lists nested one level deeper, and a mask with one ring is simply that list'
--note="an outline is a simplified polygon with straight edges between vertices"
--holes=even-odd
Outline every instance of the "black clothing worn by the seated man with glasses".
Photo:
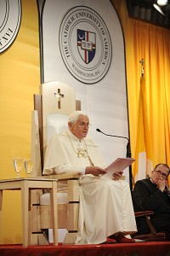
[{"label": "black clothing worn by the seated man with glasses", "polygon": [[[170,232],[170,195],[161,192],[150,178],[139,180],[133,189],[134,212],[143,210],[154,211],[151,217],[157,231]],[[140,234],[149,233],[145,218],[137,218]]]}]

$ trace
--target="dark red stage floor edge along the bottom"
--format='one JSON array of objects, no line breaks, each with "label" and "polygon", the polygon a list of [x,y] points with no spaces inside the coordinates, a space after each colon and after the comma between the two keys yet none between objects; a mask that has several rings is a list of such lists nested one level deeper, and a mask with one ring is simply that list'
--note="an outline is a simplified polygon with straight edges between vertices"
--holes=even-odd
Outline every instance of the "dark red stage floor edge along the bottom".
[{"label": "dark red stage floor edge along the bottom", "polygon": [[1,245],[1,256],[170,256],[170,241],[85,246]]}]

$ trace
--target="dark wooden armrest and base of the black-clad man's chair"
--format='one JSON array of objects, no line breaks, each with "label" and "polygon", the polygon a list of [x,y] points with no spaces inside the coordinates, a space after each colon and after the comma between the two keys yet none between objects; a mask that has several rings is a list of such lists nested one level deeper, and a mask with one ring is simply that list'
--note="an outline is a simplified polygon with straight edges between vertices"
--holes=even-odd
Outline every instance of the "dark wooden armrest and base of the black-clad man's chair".
[{"label": "dark wooden armrest and base of the black-clad man's chair", "polygon": [[157,232],[154,224],[151,221],[150,216],[154,215],[153,211],[134,212],[135,218],[145,218],[148,224],[150,233],[144,235],[134,235],[134,239],[144,241],[170,241],[170,234],[166,232]]}]

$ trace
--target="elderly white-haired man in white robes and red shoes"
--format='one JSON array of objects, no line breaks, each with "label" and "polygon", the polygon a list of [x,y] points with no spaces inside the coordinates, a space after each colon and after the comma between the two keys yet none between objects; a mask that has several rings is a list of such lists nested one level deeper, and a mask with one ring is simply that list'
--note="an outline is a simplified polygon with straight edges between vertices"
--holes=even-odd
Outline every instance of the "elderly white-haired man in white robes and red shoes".
[{"label": "elderly white-haired man in white robes and red shoes", "polygon": [[122,170],[107,178],[105,160],[93,140],[87,137],[89,119],[75,111],[68,131],[48,143],[43,174],[81,172],[77,244],[99,244],[108,237],[116,242],[134,242],[125,237],[137,232],[129,185]]}]

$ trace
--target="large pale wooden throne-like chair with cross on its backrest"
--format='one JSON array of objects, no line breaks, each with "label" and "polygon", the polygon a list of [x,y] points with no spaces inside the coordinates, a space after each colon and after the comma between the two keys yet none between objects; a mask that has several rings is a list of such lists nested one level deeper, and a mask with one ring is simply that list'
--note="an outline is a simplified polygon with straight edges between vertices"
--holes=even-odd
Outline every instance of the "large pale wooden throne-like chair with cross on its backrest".
[{"label": "large pale wooden throne-like chair with cross on its backrest", "polygon": [[[32,177],[42,176],[44,154],[49,139],[67,128],[68,115],[80,110],[75,90],[68,84],[48,82],[41,84],[40,95],[34,96],[32,111]],[[49,176],[48,176],[49,177]],[[58,193],[58,228],[66,229],[64,244],[74,244],[77,236],[79,210],[79,174],[51,175],[67,184],[67,193]],[[37,190],[32,195],[31,244],[48,244],[46,232],[52,228],[48,191]]]}]

